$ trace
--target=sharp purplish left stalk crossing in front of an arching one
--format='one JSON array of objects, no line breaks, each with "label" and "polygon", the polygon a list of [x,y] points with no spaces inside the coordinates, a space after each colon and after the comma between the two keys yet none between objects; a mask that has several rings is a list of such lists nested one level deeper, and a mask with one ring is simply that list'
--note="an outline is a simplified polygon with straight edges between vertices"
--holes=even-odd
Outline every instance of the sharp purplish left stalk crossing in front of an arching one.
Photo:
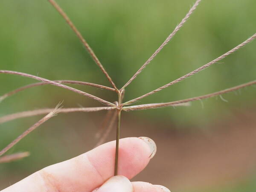
[{"label": "sharp purplish left stalk crossing in front of an arching one", "polygon": [[41,78],[41,77],[38,77],[38,76],[33,76],[33,75],[30,75],[30,74],[27,74],[27,73],[20,73],[20,72],[16,72],[16,71],[9,71],[9,70],[0,70],[0,73],[6,73],[6,74],[13,74],[13,75],[19,75],[19,76],[24,76],[24,77],[29,77],[29,78],[32,78],[32,79],[36,79],[38,81],[43,81],[43,82],[46,82],[48,84],[52,84],[52,85],[55,85],[57,87],[61,87],[61,88],[64,88],[64,89],[68,89],[68,90],[71,90],[73,92],[76,92],[76,93],[79,93],[81,95],[84,95],[84,96],[87,96],[91,99],[95,99],[97,100],[98,102],[101,102],[102,104],[105,104],[105,105],[110,105],[110,106],[115,106],[113,103],[111,102],[108,102],[108,101],[105,101],[104,99],[101,99],[99,97],[96,97],[94,95],[91,95],[89,93],[85,93],[81,90],[78,90],[78,89],[75,89],[73,87],[69,87],[67,85],[64,85],[64,84],[60,84],[58,82],[55,82],[55,81],[51,81],[51,80],[48,80],[48,79],[44,79],[44,78]]}]

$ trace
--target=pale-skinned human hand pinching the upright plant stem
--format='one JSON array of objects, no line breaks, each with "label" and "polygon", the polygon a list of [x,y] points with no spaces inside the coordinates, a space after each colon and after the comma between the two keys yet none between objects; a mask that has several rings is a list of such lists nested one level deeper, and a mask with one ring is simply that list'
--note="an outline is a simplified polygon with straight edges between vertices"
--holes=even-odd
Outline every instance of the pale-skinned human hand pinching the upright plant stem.
[{"label": "pale-skinned human hand pinching the upright plant stem", "polygon": [[[2,192],[170,192],[146,182],[130,182],[156,152],[153,140],[129,137],[119,141],[119,176],[113,176],[115,141],[70,160],[41,169]],[[121,176],[123,175],[123,176]]]}]

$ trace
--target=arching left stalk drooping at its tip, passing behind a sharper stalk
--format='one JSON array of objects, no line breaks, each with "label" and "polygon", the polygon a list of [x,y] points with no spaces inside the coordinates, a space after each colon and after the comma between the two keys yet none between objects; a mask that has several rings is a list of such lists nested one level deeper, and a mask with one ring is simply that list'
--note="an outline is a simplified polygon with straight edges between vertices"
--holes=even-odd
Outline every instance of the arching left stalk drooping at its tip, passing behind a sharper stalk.
[{"label": "arching left stalk drooping at its tip, passing behind a sharper stalk", "polygon": [[[94,83],[88,83],[88,82],[84,82],[84,81],[71,81],[71,80],[54,80],[55,82],[58,82],[58,83],[64,83],[64,84],[79,84],[79,85],[89,85],[89,86],[92,86],[92,87],[98,87],[98,88],[101,88],[101,89],[107,89],[107,90],[112,90],[112,91],[115,91],[113,88],[111,87],[106,87],[104,85],[100,85],[100,84],[94,84]],[[17,88],[15,90],[12,90],[6,94],[4,94],[3,96],[0,96],[0,102],[3,101],[3,99],[6,99],[7,97],[9,96],[12,96],[20,91],[23,91],[23,90],[26,90],[26,89],[29,89],[31,87],[37,87],[37,86],[41,86],[41,85],[45,85],[45,84],[48,84],[46,82],[39,82],[39,83],[33,83],[33,84],[28,84],[26,86],[23,86],[23,87],[20,87],[20,88]]]}]

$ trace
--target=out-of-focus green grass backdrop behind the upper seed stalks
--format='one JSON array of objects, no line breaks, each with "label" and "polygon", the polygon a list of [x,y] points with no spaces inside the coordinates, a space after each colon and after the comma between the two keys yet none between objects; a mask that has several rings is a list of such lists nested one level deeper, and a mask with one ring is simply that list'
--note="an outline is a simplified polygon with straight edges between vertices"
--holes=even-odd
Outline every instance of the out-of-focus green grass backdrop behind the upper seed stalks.
[{"label": "out-of-focus green grass backdrop behind the upper seed stalks", "polygon": [[[58,1],[93,47],[118,87],[121,87],[146,61],[184,17],[193,1]],[[253,0],[203,1],[168,46],[151,62],[126,90],[126,101],[166,84],[206,64],[244,41],[256,31]],[[46,1],[2,1],[0,6],[1,69],[38,74],[49,79],[76,79],[106,84],[96,64],[85,52],[73,31]],[[211,93],[255,79],[255,42],[183,82],[143,99],[140,103],[169,102]],[[222,64],[224,63],[224,64]],[[32,80],[1,75],[1,92],[5,93]],[[84,87],[90,93],[99,91]],[[51,95],[49,96],[49,94]],[[240,92],[239,92],[240,93]],[[33,94],[31,102],[9,106]],[[52,98],[54,96],[54,99]],[[24,97],[23,97],[24,96]],[[112,93],[103,97],[116,100]],[[228,115],[232,107],[255,104],[255,88],[236,96],[224,96],[230,103],[208,99],[194,102],[190,108],[172,108],[139,112],[142,116],[165,116],[173,122],[203,123]],[[42,100],[37,102],[35,100]],[[90,99],[59,88],[39,87],[20,93],[1,104],[1,113],[49,106],[56,100],[65,104],[80,102],[97,105]],[[6,105],[5,105],[6,104]],[[196,113],[195,113],[196,111]],[[203,118],[202,118],[203,117]],[[184,122],[184,119],[186,121]],[[201,120],[205,119],[205,120]]]}]

